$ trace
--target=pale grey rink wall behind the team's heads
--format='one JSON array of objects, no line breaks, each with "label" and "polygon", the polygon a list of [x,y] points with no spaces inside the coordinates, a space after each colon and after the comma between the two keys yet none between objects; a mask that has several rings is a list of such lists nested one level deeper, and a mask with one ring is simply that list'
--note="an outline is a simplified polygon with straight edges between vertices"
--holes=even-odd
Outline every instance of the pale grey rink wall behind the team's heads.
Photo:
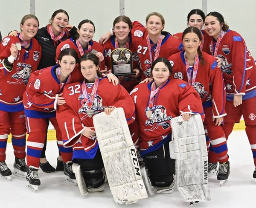
[{"label": "pale grey rink wall behind the team's heads", "polygon": [[0,4],[2,37],[19,29],[25,14],[35,12],[40,27],[44,27],[55,10],[64,9],[72,25],[78,26],[84,19],[92,20],[96,27],[93,40],[96,41],[112,27],[114,18],[120,14],[145,24],[148,13],[159,12],[166,20],[165,30],[175,34],[186,28],[186,16],[190,10],[216,11],[224,16],[230,29],[241,34],[256,58],[255,0],[0,0]]}]

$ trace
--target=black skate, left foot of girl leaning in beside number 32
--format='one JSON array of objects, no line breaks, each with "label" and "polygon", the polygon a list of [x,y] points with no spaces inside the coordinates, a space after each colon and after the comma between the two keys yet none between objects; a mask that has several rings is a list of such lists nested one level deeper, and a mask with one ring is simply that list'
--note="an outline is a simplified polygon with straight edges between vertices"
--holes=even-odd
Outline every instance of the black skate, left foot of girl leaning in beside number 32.
[{"label": "black skate, left foot of girl leaning in beside number 32", "polygon": [[38,176],[38,169],[32,168],[31,166],[28,168],[26,180],[29,182],[29,184],[27,185],[27,188],[29,188],[31,191],[37,191],[38,186],[41,185],[41,181]]}]

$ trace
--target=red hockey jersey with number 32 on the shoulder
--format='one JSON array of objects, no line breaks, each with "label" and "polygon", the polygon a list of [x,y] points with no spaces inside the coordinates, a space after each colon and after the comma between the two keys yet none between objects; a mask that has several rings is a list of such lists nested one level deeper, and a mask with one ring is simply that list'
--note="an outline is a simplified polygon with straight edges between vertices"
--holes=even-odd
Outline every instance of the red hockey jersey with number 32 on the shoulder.
[{"label": "red hockey jersey with number 32 on the shoulder", "polygon": [[[87,84],[87,86],[89,85]],[[92,88],[87,89],[89,96]],[[63,96],[66,104],[58,107],[56,118],[62,132],[64,147],[73,146],[74,158],[92,159],[98,149],[98,143],[95,137],[88,139],[81,135],[86,127],[93,127],[93,117],[90,118],[87,115],[88,106],[84,102],[81,83],[65,86]],[[134,102],[128,92],[121,85],[113,86],[107,78],[102,78],[99,80],[91,110],[94,114],[98,114],[110,106],[122,107],[128,124],[134,121]]]}]

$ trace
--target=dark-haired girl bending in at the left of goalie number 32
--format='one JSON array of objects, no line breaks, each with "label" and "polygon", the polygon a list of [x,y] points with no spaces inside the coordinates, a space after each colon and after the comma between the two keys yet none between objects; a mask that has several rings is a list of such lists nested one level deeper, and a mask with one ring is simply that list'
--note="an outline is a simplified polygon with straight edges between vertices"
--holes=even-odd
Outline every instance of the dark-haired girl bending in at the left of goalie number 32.
[{"label": "dark-haired girl bending in at the left of goalie number 32", "polygon": [[27,164],[29,170],[26,179],[28,188],[32,191],[41,184],[38,170],[41,151],[46,139],[49,121],[56,130],[59,150],[64,161],[66,180],[72,183],[75,178],[72,172],[72,149],[64,148],[55,111],[65,103],[61,96],[64,85],[69,84],[72,72],[78,61],[78,55],[73,49],[65,49],[59,55],[58,65],[38,70],[32,74],[29,85],[24,93],[23,105],[26,115],[26,125],[29,134],[27,141]]}]

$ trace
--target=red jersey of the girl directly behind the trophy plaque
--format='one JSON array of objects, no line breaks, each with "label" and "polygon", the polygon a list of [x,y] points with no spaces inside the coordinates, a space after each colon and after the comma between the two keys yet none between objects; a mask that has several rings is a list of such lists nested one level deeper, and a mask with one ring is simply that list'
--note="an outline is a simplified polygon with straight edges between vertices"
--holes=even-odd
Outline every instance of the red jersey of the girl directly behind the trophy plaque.
[{"label": "red jersey of the girl directly behind the trophy plaque", "polygon": [[[105,58],[105,64],[107,66],[108,70],[111,70],[111,52],[116,49],[115,48],[115,38],[116,36],[113,35],[111,38],[103,45],[104,47],[104,58]],[[128,48],[133,55],[133,68],[135,69],[139,63],[139,57],[137,53],[137,48],[134,46],[130,39],[130,44]],[[131,90],[140,82],[140,77],[134,78],[131,76],[117,76],[117,78],[120,81],[120,84],[128,91],[131,92]]]}]

